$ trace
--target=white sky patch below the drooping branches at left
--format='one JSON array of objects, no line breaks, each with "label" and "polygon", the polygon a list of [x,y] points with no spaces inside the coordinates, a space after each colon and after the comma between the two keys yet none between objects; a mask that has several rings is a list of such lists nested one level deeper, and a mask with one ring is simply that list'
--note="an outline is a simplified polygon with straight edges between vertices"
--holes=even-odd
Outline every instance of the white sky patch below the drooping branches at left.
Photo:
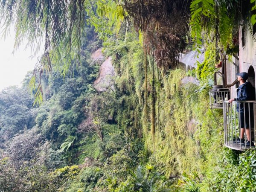
[{"label": "white sky patch below the drooping branches at left", "polygon": [[13,53],[14,37],[14,32],[5,39],[0,34],[0,90],[11,85],[20,86],[27,71],[34,69],[40,55],[31,58],[30,48],[25,50],[26,42]]}]

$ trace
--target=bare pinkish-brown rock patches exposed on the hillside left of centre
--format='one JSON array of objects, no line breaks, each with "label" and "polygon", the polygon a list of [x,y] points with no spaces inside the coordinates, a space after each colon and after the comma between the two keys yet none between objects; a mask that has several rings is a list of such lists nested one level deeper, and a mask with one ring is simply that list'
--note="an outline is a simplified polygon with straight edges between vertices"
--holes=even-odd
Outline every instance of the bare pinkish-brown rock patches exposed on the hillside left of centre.
[{"label": "bare pinkish-brown rock patches exposed on the hillside left of centre", "polygon": [[[102,49],[98,49],[92,54],[93,61],[103,61],[104,56],[102,55]],[[113,78],[115,76],[115,70],[111,62],[111,57],[108,57],[99,68],[99,77],[94,81],[93,87],[101,92],[108,88],[113,88]]]}]

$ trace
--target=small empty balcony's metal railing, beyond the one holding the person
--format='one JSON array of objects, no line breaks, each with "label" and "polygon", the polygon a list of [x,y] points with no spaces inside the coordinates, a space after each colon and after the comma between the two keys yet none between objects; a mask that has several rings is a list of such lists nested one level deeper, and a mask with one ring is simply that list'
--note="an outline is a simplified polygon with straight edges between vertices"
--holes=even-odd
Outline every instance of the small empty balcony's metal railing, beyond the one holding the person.
[{"label": "small empty balcony's metal railing, beyond the one holding the person", "polygon": [[230,88],[212,88],[209,91],[210,108],[223,108],[223,102],[230,99]]}]

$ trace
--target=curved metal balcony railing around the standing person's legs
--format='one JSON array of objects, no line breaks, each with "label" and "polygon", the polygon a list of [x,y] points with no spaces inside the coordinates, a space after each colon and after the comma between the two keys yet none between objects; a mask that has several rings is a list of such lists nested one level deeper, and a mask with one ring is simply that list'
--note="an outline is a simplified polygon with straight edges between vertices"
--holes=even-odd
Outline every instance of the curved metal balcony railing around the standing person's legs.
[{"label": "curved metal balcony railing around the standing person's legs", "polygon": [[[223,104],[224,145],[241,151],[255,148],[255,101],[233,101],[232,103],[224,101]],[[240,137],[241,134],[242,137]]]}]

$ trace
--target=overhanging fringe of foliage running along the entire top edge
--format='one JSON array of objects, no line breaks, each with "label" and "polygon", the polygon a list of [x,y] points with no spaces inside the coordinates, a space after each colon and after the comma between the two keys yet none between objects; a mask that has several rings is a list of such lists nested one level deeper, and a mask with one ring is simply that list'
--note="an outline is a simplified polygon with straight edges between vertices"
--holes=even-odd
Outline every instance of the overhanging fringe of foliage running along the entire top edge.
[{"label": "overhanging fringe of foliage running along the entire top edge", "polygon": [[43,72],[56,67],[66,76],[80,62],[86,24],[105,40],[134,23],[143,34],[144,52],[154,55],[158,67],[170,69],[177,66],[180,52],[189,44],[200,51],[207,38],[215,38],[222,53],[230,51],[237,26],[249,23],[252,30],[255,9],[255,0],[3,0],[0,25],[3,36],[15,25],[15,49],[25,38],[35,53],[44,43],[44,54],[30,81],[35,90],[38,86],[35,98],[40,102]]}]

